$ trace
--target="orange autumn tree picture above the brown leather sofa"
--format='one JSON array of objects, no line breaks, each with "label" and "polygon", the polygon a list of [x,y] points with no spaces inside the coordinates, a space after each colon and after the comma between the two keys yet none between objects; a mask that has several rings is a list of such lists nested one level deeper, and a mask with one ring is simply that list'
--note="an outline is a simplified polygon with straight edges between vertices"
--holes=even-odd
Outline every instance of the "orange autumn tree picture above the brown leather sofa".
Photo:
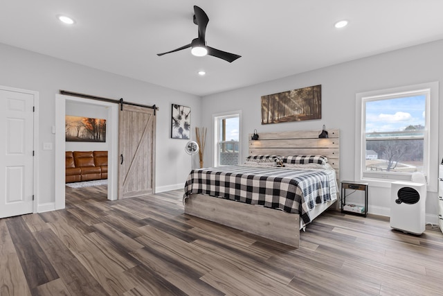
[{"label": "orange autumn tree picture above the brown leather sofa", "polygon": [[106,119],[65,116],[67,142],[106,142]]}]

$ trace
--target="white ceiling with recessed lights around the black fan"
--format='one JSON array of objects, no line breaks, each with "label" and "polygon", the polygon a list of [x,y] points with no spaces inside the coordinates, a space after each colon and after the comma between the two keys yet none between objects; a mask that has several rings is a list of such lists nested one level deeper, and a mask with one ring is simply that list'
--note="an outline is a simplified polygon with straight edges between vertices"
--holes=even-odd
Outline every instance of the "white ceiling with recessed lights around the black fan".
[{"label": "white ceiling with recessed lights around the black fan", "polygon": [[[207,44],[242,58],[156,55],[197,37],[194,5]],[[442,0],[1,0],[0,43],[206,96],[442,39],[442,12]]]}]

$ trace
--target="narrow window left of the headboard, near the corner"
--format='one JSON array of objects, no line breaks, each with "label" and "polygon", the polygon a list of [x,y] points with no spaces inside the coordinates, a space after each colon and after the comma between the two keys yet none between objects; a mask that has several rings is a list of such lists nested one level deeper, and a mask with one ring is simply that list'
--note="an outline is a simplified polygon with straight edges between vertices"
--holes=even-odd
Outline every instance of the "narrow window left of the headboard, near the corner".
[{"label": "narrow window left of the headboard, near the corner", "polygon": [[214,116],[215,166],[235,166],[239,164],[240,113],[218,114]]}]

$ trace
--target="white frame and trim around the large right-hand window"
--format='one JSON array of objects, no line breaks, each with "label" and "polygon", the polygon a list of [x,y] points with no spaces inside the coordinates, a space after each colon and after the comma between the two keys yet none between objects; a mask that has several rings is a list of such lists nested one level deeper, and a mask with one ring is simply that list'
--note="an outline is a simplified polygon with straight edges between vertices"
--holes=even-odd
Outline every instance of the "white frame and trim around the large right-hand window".
[{"label": "white frame and trim around the large right-hand window", "polygon": [[391,182],[410,181],[412,173],[383,172],[368,173],[365,171],[366,139],[365,139],[365,102],[388,98],[401,98],[415,94],[426,93],[426,130],[424,133],[424,175],[428,182],[428,191],[437,191],[438,168],[438,82],[428,82],[419,85],[408,85],[391,89],[381,89],[372,92],[356,94],[356,151],[354,177],[362,182],[370,182],[373,186],[389,187]]}]

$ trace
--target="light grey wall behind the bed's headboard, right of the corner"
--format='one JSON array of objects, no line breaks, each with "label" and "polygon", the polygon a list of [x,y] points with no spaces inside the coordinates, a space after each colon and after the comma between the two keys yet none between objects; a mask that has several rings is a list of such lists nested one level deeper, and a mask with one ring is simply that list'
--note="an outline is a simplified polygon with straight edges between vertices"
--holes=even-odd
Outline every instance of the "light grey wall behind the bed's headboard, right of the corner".
[{"label": "light grey wall behind the bed's headboard, right of the corner", "polygon": [[[440,82],[440,98],[443,89],[443,40],[414,46],[407,49],[374,55],[369,58],[345,62],[287,78],[244,87],[230,92],[205,96],[202,100],[201,123],[212,126],[212,114],[242,110],[242,143],[247,143],[248,134],[285,130],[316,130],[339,128],[341,132],[341,180],[354,179],[355,156],[355,104],[356,93],[377,89],[388,89],[423,82]],[[294,57],[297,58],[297,57]],[[322,85],[322,119],[292,123],[261,125],[260,97],[300,87]],[[235,107],[233,107],[235,106]],[[440,114],[443,104],[440,104]],[[442,159],[443,121],[440,121],[439,159]],[[208,129],[208,139],[213,131]],[[213,151],[212,140],[207,151]],[[437,147],[435,147],[437,149]],[[242,155],[248,155],[248,146],[242,146]],[[213,155],[206,153],[206,162],[212,163]],[[433,172],[431,177],[437,177]],[[390,190],[370,186],[369,211],[386,215],[390,207]],[[428,193],[426,201],[427,221],[436,223],[437,193]]]}]

